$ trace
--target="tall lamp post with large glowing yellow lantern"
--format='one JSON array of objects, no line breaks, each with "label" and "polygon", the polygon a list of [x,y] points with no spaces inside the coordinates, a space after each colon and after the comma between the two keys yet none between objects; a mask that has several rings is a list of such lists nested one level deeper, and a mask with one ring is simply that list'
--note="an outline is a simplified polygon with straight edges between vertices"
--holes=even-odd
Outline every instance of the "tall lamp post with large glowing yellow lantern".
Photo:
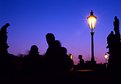
[{"label": "tall lamp post with large glowing yellow lantern", "polygon": [[93,11],[90,12],[90,16],[87,17],[88,25],[91,30],[91,63],[95,64],[95,58],[94,58],[94,28],[96,25],[96,16],[93,15]]}]

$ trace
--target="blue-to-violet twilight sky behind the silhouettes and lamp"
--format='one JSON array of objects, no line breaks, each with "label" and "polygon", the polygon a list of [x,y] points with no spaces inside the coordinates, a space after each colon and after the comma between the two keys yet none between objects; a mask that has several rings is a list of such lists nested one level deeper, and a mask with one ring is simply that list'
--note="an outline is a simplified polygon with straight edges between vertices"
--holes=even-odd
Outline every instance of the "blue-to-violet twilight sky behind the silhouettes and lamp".
[{"label": "blue-to-violet twilight sky behind the silhouettes and lamp", "polygon": [[90,29],[87,16],[90,10],[97,17],[95,28],[95,59],[104,63],[108,50],[107,35],[113,30],[114,16],[121,19],[121,0],[0,0],[0,27],[8,28],[9,53],[26,54],[31,45],[39,47],[40,54],[47,49],[45,35],[51,32],[68,54],[91,59]]}]

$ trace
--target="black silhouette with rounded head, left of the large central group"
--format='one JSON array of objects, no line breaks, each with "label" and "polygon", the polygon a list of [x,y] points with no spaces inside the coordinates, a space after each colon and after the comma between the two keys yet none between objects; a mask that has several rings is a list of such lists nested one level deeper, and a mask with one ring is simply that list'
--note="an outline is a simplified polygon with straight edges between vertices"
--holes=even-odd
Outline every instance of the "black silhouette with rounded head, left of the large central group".
[{"label": "black silhouette with rounded head, left of the large central group", "polygon": [[38,47],[32,45],[29,54],[25,56],[23,61],[23,74],[27,76],[37,76],[42,72],[43,58],[39,55]]}]

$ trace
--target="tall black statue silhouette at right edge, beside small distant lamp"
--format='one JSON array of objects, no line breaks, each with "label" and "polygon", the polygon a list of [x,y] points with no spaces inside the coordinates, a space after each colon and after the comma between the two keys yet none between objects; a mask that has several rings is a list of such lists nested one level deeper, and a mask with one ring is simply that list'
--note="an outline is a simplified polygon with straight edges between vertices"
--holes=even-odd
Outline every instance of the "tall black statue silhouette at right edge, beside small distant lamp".
[{"label": "tall black statue silhouette at right edge, beside small distant lamp", "polygon": [[108,70],[119,73],[121,70],[121,42],[120,42],[120,31],[119,31],[119,20],[115,16],[114,18],[114,32],[113,31],[107,37],[107,43],[109,48],[109,60]]}]

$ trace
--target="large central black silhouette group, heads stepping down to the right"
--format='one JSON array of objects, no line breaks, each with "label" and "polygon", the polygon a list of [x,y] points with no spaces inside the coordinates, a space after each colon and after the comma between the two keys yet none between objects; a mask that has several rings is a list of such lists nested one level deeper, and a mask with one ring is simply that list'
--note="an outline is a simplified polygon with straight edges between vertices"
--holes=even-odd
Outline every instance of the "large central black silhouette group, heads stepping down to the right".
[{"label": "large central black silhouette group, heads stepping down to the right", "polygon": [[45,66],[48,74],[60,76],[71,70],[73,61],[67,55],[66,48],[61,47],[60,41],[55,40],[53,37],[53,34],[46,35],[46,40],[47,43],[49,43],[49,46],[45,53]]}]

